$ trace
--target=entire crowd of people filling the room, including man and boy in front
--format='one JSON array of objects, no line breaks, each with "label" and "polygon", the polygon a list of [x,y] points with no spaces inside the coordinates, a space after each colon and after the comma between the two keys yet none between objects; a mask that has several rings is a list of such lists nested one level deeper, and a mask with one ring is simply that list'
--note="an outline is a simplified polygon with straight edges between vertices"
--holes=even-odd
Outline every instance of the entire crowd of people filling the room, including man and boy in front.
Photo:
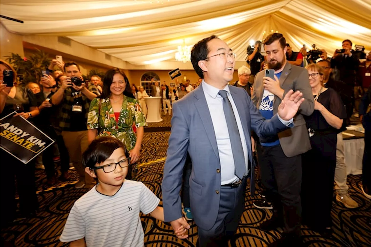
[{"label": "entire crowd of people filling the room, including man and boy in front", "polygon": [[[163,208],[144,184],[132,180],[147,126],[149,95],[143,86],[130,84],[118,68],[108,70],[103,79],[94,75],[84,82],[77,63],[56,59],[39,83],[18,85],[16,71],[0,60],[0,82],[4,70],[13,71],[14,82],[12,87],[0,84],[0,117],[16,111],[14,116],[32,122],[55,141],[27,165],[0,149],[0,157],[13,164],[3,167],[7,214],[1,214],[1,225],[16,217],[16,184],[21,214],[36,213],[38,163],[50,186],[58,179],[70,180],[74,167],[79,177],[75,188],[93,188],[73,205],[60,237],[63,242],[142,246],[141,211],[170,222],[179,238],[188,237],[187,220],[194,219],[200,246],[226,246],[229,240],[233,243],[246,188],[254,195],[257,166],[263,199],[254,205],[273,210],[259,229],[285,230],[272,246],[301,246],[301,224],[331,236],[334,180],[336,200],[358,207],[348,194],[341,132],[354,111],[354,87],[370,87],[371,53],[360,63],[351,41],[344,40],[343,51],[335,51],[332,59],[322,52],[313,63],[305,49],[293,52],[282,34],[270,34],[262,45],[265,54],[256,43],[249,64],[237,70],[236,82],[232,81],[236,55],[216,36],[201,40],[191,51],[200,77],[197,84],[175,80],[169,87],[152,79],[150,95],[161,97],[163,114],[173,115]],[[266,69],[274,76],[267,76]],[[367,198],[371,198],[370,92],[359,105],[365,128],[362,191]]]}]

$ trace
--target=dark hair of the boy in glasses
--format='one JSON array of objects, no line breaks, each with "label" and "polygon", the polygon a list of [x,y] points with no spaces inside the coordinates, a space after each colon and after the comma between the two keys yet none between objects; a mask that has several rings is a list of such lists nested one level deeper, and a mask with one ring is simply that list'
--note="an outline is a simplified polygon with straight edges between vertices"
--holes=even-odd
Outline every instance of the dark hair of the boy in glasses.
[{"label": "dark hair of the boy in glasses", "polygon": [[118,148],[124,149],[125,156],[129,157],[126,146],[114,137],[100,137],[91,142],[86,151],[82,154],[82,164],[84,167],[93,169],[96,164],[100,164],[108,159]]}]

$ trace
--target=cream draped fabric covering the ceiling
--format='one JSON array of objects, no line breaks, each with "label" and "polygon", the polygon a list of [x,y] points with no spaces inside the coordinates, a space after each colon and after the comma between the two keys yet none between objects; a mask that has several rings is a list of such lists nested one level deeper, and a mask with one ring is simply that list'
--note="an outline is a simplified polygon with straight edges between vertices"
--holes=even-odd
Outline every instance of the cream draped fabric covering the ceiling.
[{"label": "cream draped fabric covering the ceiling", "polygon": [[[154,0],[156,2],[157,0]],[[251,40],[283,33],[299,51],[332,56],[341,42],[371,49],[371,0],[0,0],[2,20],[20,34],[67,36],[133,65],[174,61],[178,45],[216,34],[246,59]]]}]

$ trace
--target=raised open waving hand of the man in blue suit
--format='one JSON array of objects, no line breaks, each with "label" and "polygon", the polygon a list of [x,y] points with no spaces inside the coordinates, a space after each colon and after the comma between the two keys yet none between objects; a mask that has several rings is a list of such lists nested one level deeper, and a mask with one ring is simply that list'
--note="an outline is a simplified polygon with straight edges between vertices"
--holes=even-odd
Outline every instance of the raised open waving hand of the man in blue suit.
[{"label": "raised open waving hand of the man in blue suit", "polygon": [[291,89],[286,93],[285,98],[278,106],[278,115],[285,121],[289,121],[298,112],[299,106],[303,103],[303,93]]}]

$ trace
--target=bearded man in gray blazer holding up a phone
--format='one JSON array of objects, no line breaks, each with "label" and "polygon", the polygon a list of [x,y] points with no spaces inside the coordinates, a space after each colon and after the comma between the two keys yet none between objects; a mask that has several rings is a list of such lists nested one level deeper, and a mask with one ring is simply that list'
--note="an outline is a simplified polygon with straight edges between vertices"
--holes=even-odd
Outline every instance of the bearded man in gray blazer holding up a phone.
[{"label": "bearded man in gray blazer holding up a phone", "polygon": [[[252,101],[266,119],[279,112],[281,99],[289,90],[300,90],[305,99],[294,117],[294,128],[281,131],[270,138],[260,138],[257,157],[266,198],[273,202],[273,217],[260,225],[260,230],[285,226],[286,246],[299,241],[301,225],[301,154],[311,149],[308,129],[303,115],[314,110],[308,71],[286,61],[286,40],[273,33],[263,40],[268,67],[274,70],[275,80],[265,77],[265,70],[255,76]],[[315,198],[313,198],[315,200]],[[254,202],[259,207],[259,202]]]}]

